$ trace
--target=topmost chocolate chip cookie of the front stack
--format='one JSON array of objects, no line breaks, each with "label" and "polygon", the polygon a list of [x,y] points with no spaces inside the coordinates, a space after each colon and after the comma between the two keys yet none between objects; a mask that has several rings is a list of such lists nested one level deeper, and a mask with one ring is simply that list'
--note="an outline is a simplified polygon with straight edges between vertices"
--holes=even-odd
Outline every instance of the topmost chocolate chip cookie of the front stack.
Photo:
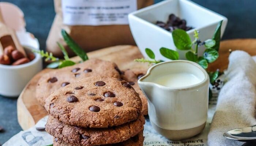
[{"label": "topmost chocolate chip cookie of the front stack", "polygon": [[142,102],[124,80],[87,77],[52,93],[45,100],[49,115],[65,124],[107,128],[138,118]]}]

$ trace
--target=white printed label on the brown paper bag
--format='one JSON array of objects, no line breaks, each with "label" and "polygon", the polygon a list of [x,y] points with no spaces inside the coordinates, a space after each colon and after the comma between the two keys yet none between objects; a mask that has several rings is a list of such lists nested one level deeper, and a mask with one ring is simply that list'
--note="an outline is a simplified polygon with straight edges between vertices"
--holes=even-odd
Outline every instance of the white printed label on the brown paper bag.
[{"label": "white printed label on the brown paper bag", "polygon": [[67,25],[128,24],[128,14],[136,10],[137,0],[62,0]]}]

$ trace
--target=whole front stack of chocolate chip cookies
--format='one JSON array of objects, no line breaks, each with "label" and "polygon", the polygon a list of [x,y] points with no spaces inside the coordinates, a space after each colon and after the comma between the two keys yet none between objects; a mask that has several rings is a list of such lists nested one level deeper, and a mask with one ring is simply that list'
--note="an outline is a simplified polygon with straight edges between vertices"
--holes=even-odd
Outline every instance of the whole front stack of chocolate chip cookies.
[{"label": "whole front stack of chocolate chip cookies", "polygon": [[66,85],[45,100],[46,131],[54,146],[142,146],[142,101],[118,78],[91,76]]}]

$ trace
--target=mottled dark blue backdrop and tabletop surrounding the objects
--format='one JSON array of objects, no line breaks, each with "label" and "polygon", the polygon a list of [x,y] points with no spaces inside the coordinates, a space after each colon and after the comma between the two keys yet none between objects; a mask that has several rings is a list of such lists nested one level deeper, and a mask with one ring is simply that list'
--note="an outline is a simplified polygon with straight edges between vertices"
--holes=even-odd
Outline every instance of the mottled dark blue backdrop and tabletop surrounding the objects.
[{"label": "mottled dark blue backdrop and tabletop surrounding the objects", "polygon": [[[18,5],[25,14],[27,31],[38,38],[41,49],[50,30],[55,12],[53,0],[0,0]],[[159,2],[161,0],[155,0]],[[229,19],[223,39],[256,38],[255,0],[192,0]],[[17,121],[16,99],[0,96],[0,144],[22,130]]]}]

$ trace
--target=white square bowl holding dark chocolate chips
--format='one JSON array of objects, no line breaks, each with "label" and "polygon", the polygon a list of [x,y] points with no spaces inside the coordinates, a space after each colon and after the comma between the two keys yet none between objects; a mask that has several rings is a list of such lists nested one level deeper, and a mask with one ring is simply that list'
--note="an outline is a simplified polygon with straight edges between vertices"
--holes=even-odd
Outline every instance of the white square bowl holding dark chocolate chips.
[{"label": "white square bowl holding dark chocolate chips", "polygon": [[[154,51],[156,59],[168,60],[159,52],[161,47],[166,47],[178,51],[180,59],[185,59],[186,51],[178,50],[175,47],[172,33],[155,25],[157,21],[166,22],[170,14],[175,14],[181,19],[185,19],[187,26],[194,28],[187,31],[192,41],[194,40],[193,33],[195,29],[200,31],[199,39],[206,41],[212,38],[215,28],[221,20],[223,21],[221,37],[227,25],[226,17],[189,0],[165,0],[132,12],[128,16],[129,26],[133,38],[145,58],[147,58],[145,49],[150,48]],[[204,46],[199,47],[198,54],[202,55],[204,49]]]}]

